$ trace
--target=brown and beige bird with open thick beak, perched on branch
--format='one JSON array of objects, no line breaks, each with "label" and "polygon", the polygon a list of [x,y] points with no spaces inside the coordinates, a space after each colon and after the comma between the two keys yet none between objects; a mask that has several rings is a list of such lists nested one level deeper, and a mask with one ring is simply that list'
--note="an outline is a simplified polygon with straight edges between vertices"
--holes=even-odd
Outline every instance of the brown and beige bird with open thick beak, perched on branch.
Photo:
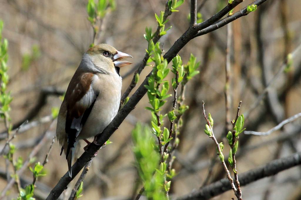
[{"label": "brown and beige bird with open thick beak, perched on branch", "polygon": [[101,133],[117,114],[122,86],[119,68],[132,64],[120,61],[126,57],[132,58],[108,44],[95,45],[82,56],[69,83],[57,118],[56,135],[66,154],[70,177],[78,141],[83,139],[89,144],[86,139]]}]

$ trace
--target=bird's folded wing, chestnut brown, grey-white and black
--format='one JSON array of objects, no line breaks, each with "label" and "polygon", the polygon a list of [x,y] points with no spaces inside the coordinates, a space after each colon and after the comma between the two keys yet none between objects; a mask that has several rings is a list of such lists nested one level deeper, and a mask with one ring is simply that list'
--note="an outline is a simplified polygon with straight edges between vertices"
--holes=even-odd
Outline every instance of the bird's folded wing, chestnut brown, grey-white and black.
[{"label": "bird's folded wing, chestnut brown, grey-white and black", "polygon": [[93,76],[93,73],[76,71],[64,98],[67,108],[65,132],[68,146],[66,158],[68,158],[70,148],[74,147],[76,137],[85,124],[98,96],[98,92],[91,86]]}]

